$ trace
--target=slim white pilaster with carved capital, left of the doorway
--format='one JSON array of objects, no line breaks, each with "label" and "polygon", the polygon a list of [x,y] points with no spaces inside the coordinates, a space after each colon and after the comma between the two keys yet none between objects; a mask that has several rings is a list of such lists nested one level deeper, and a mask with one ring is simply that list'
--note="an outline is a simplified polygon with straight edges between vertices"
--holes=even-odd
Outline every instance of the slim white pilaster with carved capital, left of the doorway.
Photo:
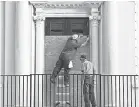
[{"label": "slim white pilaster with carved capital, left of the doorway", "polygon": [[36,24],[36,48],[35,48],[35,65],[36,74],[44,73],[44,20],[43,16],[34,16],[34,21]]}]

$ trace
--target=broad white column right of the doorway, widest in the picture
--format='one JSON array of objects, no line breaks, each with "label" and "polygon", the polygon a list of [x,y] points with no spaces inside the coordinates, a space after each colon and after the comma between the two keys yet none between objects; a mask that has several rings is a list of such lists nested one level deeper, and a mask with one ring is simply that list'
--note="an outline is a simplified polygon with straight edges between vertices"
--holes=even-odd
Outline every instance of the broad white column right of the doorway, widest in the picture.
[{"label": "broad white column right of the doorway, widest in the picture", "polygon": [[[103,46],[103,72],[105,74],[112,74],[112,75],[125,75],[125,74],[134,75],[135,74],[134,14],[135,14],[134,2],[110,1],[110,2],[104,2],[103,4],[103,18],[102,18],[103,44],[102,46]],[[124,87],[124,91],[121,87],[119,87],[119,82],[121,86],[127,83],[129,85],[130,82],[128,82],[127,79],[125,79],[123,82],[122,77],[120,79],[119,77],[117,77],[116,80],[114,79],[115,78],[113,77],[112,94],[111,93],[108,94],[108,88],[105,88],[105,92],[106,92],[105,98],[107,98],[105,105],[122,106],[122,104],[124,103],[125,106],[130,106],[131,102],[129,102],[127,105],[127,99],[126,99],[127,93],[125,93],[127,87]],[[114,86],[115,82],[116,82],[116,86]],[[105,81],[105,83],[106,84],[109,83],[110,86],[110,82]],[[108,87],[107,85],[105,86]],[[115,89],[117,90],[117,92],[115,92]],[[134,88],[129,87],[128,88],[129,92],[131,91],[131,89],[134,90]],[[123,96],[122,96],[123,92],[124,92],[125,100],[123,100]],[[104,92],[102,93],[102,96],[104,96]],[[108,97],[109,97],[109,103],[108,103]],[[128,100],[131,101],[130,93],[128,93],[128,98],[129,98]],[[134,94],[132,98],[134,100]],[[111,101],[110,99],[113,99],[113,101]],[[104,100],[102,99],[102,101]],[[132,104],[132,106],[134,106],[134,103]]]}]

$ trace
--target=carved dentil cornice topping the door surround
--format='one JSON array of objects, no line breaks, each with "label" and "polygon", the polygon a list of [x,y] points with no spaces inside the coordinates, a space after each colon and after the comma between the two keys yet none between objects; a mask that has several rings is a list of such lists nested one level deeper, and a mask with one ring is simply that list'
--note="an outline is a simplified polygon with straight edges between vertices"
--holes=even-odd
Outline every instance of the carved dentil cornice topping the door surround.
[{"label": "carved dentil cornice topping the door surround", "polygon": [[98,8],[103,1],[83,1],[83,2],[62,2],[62,1],[30,1],[30,3],[35,7],[35,8]]}]

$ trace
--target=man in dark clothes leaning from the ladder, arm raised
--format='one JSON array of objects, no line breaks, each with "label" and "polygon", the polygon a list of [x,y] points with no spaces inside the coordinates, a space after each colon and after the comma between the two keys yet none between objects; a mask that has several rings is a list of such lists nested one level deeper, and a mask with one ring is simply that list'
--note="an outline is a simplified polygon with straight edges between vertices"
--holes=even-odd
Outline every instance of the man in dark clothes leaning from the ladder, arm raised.
[{"label": "man in dark clothes leaning from the ladder, arm raised", "polygon": [[77,49],[85,46],[89,40],[89,38],[85,38],[86,41],[84,43],[79,42],[83,37],[86,36],[83,36],[82,34],[73,34],[68,38],[51,75],[52,83],[55,83],[55,78],[57,77],[60,70],[64,68],[64,84],[65,86],[69,85],[69,71],[73,67],[72,60],[76,55]]}]

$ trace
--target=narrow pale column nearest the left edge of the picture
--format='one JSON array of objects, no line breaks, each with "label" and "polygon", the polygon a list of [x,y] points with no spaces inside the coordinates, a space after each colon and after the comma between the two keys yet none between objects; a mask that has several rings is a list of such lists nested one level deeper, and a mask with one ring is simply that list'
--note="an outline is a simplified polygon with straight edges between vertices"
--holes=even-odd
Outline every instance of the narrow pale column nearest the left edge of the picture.
[{"label": "narrow pale column nearest the left edge of the picture", "polygon": [[[5,75],[15,74],[15,11],[16,2],[5,1]],[[14,77],[5,76],[4,83],[5,106],[13,106],[15,103]]]}]

